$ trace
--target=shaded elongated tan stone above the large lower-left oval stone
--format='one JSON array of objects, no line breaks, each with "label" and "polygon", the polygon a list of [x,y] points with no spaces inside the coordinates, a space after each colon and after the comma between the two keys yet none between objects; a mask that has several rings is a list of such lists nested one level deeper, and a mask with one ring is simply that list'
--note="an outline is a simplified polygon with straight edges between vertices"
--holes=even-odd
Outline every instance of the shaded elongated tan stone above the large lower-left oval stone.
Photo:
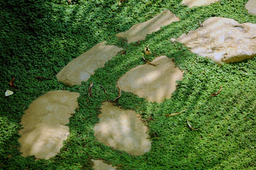
[{"label": "shaded elongated tan stone above the large lower-left oval stone", "polygon": [[104,67],[108,60],[123,50],[114,45],[104,45],[105,43],[96,44],[84,54],[70,61],[56,75],[58,81],[67,85],[81,85],[81,82],[87,81],[96,69]]}]

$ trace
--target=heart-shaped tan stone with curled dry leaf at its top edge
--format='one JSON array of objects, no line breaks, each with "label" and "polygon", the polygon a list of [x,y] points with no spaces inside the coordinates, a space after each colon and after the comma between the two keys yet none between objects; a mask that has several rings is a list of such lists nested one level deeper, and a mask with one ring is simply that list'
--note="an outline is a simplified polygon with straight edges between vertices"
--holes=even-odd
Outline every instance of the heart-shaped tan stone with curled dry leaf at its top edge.
[{"label": "heart-shaped tan stone with curled dry leaf at its top edge", "polygon": [[166,56],[157,57],[151,63],[159,65],[137,66],[120,77],[117,85],[123,91],[132,92],[151,102],[162,103],[172,96],[176,81],[182,80],[183,72]]}]

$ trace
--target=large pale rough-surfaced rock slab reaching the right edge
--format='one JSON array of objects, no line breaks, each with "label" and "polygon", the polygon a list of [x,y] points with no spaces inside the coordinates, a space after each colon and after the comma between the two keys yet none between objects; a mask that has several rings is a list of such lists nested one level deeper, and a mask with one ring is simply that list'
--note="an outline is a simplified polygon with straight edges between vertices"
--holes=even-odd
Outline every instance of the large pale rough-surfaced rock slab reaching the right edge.
[{"label": "large pale rough-surfaced rock slab reaching the right edge", "polygon": [[256,24],[211,17],[203,27],[181,35],[176,41],[218,64],[232,63],[256,56]]}]

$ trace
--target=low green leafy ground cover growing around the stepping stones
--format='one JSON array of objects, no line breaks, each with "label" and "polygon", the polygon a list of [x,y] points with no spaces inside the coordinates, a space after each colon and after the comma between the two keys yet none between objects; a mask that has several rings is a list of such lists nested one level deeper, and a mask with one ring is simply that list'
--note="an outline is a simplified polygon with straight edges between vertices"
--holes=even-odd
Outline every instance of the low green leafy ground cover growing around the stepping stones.
[{"label": "low green leafy ground cover growing around the stepping stones", "polygon": [[[245,9],[247,0],[221,0],[188,8],[181,0],[8,0],[0,6],[0,169],[92,169],[90,159],[101,159],[120,169],[255,169],[256,164],[256,58],[218,66],[209,58],[171,42],[213,16],[256,23]],[[140,44],[127,44],[115,34],[147,21],[168,9],[180,21],[162,27]],[[68,87],[55,75],[81,53],[107,41],[124,48],[81,86]],[[118,96],[116,81],[142,65],[146,45],[156,56],[174,58],[184,70],[177,90],[163,103],[148,102],[122,93],[115,103],[141,114],[151,136],[151,150],[132,156],[113,150],[93,136],[101,104]],[[52,77],[38,80],[36,76]],[[9,86],[15,77],[16,89]],[[93,96],[87,95],[93,81]],[[107,94],[101,89],[103,85]],[[220,87],[219,95],[210,97]],[[24,158],[19,151],[20,120],[29,104],[51,90],[79,92],[79,110],[70,118],[68,139],[50,159]],[[4,97],[10,89],[14,94]],[[111,90],[110,90],[111,89]],[[88,102],[89,101],[89,102]],[[165,117],[165,114],[182,112]],[[191,130],[186,121],[197,131]]]}]

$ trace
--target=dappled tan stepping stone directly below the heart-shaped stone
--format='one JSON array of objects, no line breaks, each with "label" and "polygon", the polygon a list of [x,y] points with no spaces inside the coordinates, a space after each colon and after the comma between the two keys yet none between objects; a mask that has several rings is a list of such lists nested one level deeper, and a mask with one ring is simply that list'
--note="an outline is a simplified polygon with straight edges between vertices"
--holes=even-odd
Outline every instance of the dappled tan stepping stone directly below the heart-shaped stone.
[{"label": "dappled tan stepping stone directly below the heart-shaped stone", "polygon": [[98,141],[132,155],[142,155],[150,150],[151,141],[147,127],[132,110],[123,110],[104,102],[99,115],[100,123],[94,127]]}]

